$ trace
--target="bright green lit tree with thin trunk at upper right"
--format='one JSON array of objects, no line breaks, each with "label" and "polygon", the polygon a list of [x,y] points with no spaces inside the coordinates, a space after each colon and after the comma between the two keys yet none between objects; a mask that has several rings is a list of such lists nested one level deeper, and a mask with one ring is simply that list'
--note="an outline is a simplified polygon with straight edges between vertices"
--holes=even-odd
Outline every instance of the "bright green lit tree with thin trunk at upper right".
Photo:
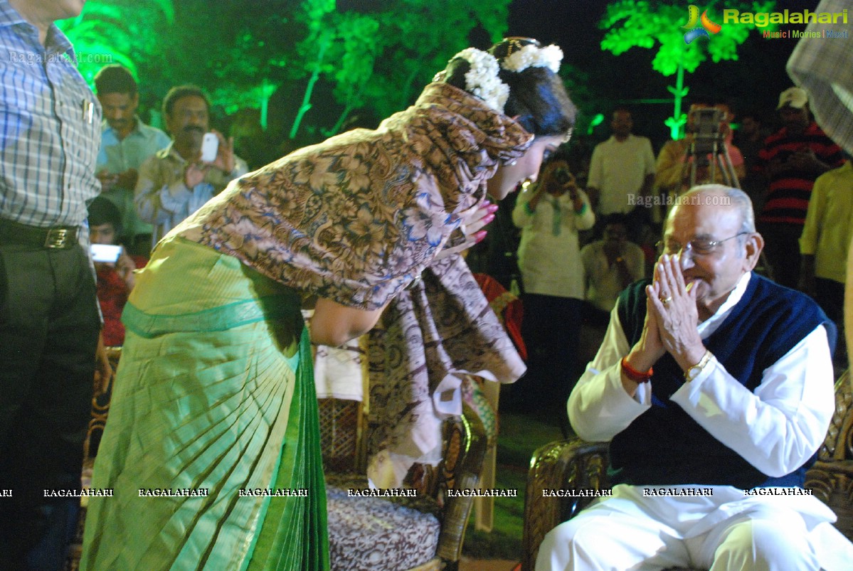
[{"label": "bright green lit tree with thin trunk at upper right", "polygon": [[[737,3],[726,2],[721,9],[714,9],[717,2],[702,4],[702,10],[707,9],[708,17],[717,24],[722,24],[722,8],[739,9],[749,12],[771,12],[775,7],[774,0],[763,2]],[[620,55],[631,48],[657,49],[652,67],[664,76],[676,74],[676,84],[670,86],[674,95],[672,117],[666,120],[673,139],[681,136],[682,127],[687,116],[682,113],[682,98],[688,94],[684,85],[684,72],[693,72],[699,65],[711,56],[712,61],[737,60],[738,46],[746,41],[751,24],[722,25],[719,32],[711,37],[699,37],[691,43],[685,40],[685,30],[682,26],[688,24],[687,4],[683,2],[654,2],[647,0],[618,0],[607,6],[599,27],[607,32],[601,40],[601,49]],[[767,30],[775,29],[767,26]]]}]

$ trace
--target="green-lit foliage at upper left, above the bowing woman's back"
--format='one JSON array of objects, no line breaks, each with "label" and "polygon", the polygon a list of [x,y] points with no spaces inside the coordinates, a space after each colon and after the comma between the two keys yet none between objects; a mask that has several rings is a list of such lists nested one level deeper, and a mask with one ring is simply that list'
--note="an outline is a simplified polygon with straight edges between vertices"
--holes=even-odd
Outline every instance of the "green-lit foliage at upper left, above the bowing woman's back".
[{"label": "green-lit foliage at upper left, above the bowing woman's back", "polygon": [[[502,37],[509,2],[89,0],[61,27],[81,55],[129,67],[143,107],[198,84],[218,115],[260,109],[263,120],[269,104],[276,130],[303,121],[310,142],[411,104],[473,31]],[[80,70],[91,80],[102,65]]]}]

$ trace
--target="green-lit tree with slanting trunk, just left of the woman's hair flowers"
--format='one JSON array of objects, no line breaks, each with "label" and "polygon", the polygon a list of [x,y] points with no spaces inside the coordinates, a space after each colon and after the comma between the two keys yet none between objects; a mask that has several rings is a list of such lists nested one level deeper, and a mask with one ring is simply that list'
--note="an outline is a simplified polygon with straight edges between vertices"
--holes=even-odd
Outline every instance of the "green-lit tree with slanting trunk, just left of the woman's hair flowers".
[{"label": "green-lit tree with slanting trunk, just left of the woman's hair flowers", "polygon": [[[352,112],[384,118],[409,105],[447,60],[468,46],[468,33],[482,27],[492,41],[506,31],[508,0],[393,0],[381,8],[336,9],[334,0],[302,3],[309,33],[299,43],[308,88],[299,111],[310,109],[310,90],[320,78],[334,86],[341,107],[339,132]],[[299,115],[301,119],[303,115]],[[295,136],[299,120],[291,130]]]}]

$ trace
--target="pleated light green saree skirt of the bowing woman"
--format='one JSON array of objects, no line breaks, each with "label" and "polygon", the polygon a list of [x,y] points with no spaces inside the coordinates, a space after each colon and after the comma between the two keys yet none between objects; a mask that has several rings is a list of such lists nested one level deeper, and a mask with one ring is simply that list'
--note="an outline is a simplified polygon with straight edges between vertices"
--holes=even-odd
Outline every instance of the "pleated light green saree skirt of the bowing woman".
[{"label": "pleated light green saree skirt of the bowing woman", "polygon": [[90,499],[81,568],[328,568],[299,296],[180,239],[151,264],[92,478],[113,497]]}]

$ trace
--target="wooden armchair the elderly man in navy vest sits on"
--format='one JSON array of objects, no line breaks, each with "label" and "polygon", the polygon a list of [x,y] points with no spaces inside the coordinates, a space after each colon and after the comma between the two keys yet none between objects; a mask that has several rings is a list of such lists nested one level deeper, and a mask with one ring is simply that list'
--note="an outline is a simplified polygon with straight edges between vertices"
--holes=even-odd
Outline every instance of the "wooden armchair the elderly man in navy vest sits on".
[{"label": "wooden armchair the elderly man in navy vest sits on", "polygon": [[[835,384],[835,414],[805,486],[838,516],[835,527],[853,540],[853,395],[850,372]],[[539,545],[551,529],[575,516],[593,498],[543,497],[543,489],[600,490],[610,487],[605,442],[580,438],[550,442],[533,453],[527,473],[522,571],[536,565]]]}]

